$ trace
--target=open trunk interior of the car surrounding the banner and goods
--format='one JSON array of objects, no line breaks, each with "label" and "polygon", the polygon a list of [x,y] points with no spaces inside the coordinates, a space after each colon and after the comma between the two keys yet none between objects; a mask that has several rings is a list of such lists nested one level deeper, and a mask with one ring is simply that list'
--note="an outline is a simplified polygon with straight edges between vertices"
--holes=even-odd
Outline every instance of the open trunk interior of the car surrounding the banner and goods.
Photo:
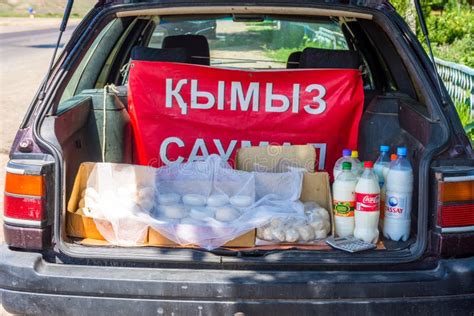
[{"label": "open trunk interior of the car surrounding the banner and goods", "polygon": [[[350,12],[346,12],[346,14],[350,14]],[[102,72],[96,73],[94,76],[94,85],[88,85],[84,79],[75,84],[73,93],[71,93],[70,87],[66,89],[58,110],[54,115],[47,117],[41,127],[42,136],[53,142],[57,148],[60,148],[64,159],[65,204],[71,197],[74,181],[82,163],[136,163],[136,152],[133,149],[135,140],[128,104],[128,75],[126,71],[120,72],[119,69],[126,69],[124,65],[127,65],[133,47],[152,47],[153,45],[150,43],[153,43],[153,38],[160,36],[160,32],[163,32],[163,29],[160,29],[157,25],[161,23],[163,27],[166,27],[167,24],[162,22],[166,20],[165,16],[162,16],[161,22],[158,22],[156,18],[139,19],[135,18],[132,13],[126,15],[130,16],[109,22],[107,26],[109,31],[104,35],[104,38],[110,37],[108,41],[115,43],[115,45],[109,44],[109,50],[115,50],[115,55],[113,57],[112,55],[104,56],[102,63],[100,63],[97,60],[100,58],[99,55],[94,54],[94,52],[88,53],[89,60],[96,58],[95,65],[103,65]],[[356,13],[354,15],[357,16]],[[259,27],[259,23],[265,23],[265,18],[268,18],[268,16],[247,18],[245,15],[241,17],[234,16],[231,23],[238,25],[238,27],[241,27],[243,23],[247,23],[245,25],[248,28],[253,28],[252,32],[255,32]],[[326,16],[312,18],[329,21]],[[282,247],[281,249],[272,250],[259,247],[247,247],[245,249],[222,247],[212,251],[196,248],[160,248],[153,246],[117,247],[100,243],[84,244],[81,238],[68,235],[66,220],[63,220],[64,226],[61,227],[63,245],[69,249],[71,255],[76,257],[116,258],[133,261],[150,259],[157,262],[162,260],[165,262],[192,263],[198,260],[200,262],[246,262],[247,264],[260,265],[264,262],[267,264],[292,262],[301,264],[374,264],[413,260],[414,253],[418,252],[417,247],[423,245],[426,238],[426,232],[420,232],[420,227],[427,225],[427,223],[420,223],[420,218],[426,218],[426,216],[420,216],[421,212],[428,211],[426,202],[422,201],[423,197],[428,194],[427,188],[421,190],[419,187],[419,183],[421,183],[419,181],[420,176],[426,176],[420,175],[420,166],[422,161],[426,159],[426,148],[436,147],[438,144],[430,134],[432,122],[428,106],[424,104],[427,102],[426,96],[423,95],[423,90],[418,86],[420,79],[414,78],[414,69],[410,69],[410,65],[406,64],[406,52],[403,52],[403,47],[394,42],[386,33],[386,29],[384,30],[377,23],[377,21],[381,21],[380,18],[372,18],[343,19],[339,17],[337,20],[332,17],[331,19],[338,21],[336,25],[340,25],[340,34],[343,35],[341,38],[345,38],[347,41],[346,49],[359,52],[362,60],[364,104],[358,126],[357,147],[360,159],[375,161],[379,146],[382,144],[390,145],[392,149],[397,146],[405,146],[408,149],[408,159],[414,169],[414,190],[411,233],[407,241],[389,241],[384,239],[381,234],[377,249],[356,254],[334,250],[324,243],[321,244],[321,247],[313,249]],[[283,21],[279,23],[294,20],[305,23],[308,17],[292,16],[291,19],[286,20],[276,15],[273,16],[273,19]],[[228,29],[222,31],[222,28],[219,28],[219,22],[217,22],[216,29],[215,20],[212,18],[206,17],[204,20],[210,21],[202,26],[202,29],[206,29],[206,32],[208,32],[205,36],[210,42],[222,42],[224,36],[222,33],[230,32]],[[173,16],[170,17],[169,21],[172,24],[181,20],[179,17]],[[199,21],[199,18],[192,21],[194,22],[191,24],[195,27],[195,24],[198,24],[195,21]],[[217,19],[217,21],[219,20]],[[191,25],[190,23],[175,24]],[[225,27],[228,27],[228,25]],[[170,32],[170,29],[173,29],[173,32],[178,32],[178,34],[192,34],[195,32],[194,30],[182,30],[177,27],[166,27],[166,32]],[[241,30],[241,32],[243,31]],[[245,34],[245,32],[242,34]],[[89,43],[89,45],[96,45],[97,48],[101,42],[103,44],[104,38],[102,40],[96,39],[95,44]],[[230,41],[230,38],[225,40]],[[87,64],[83,66],[83,71],[87,67]],[[211,67],[219,67],[219,65],[213,65],[211,62]],[[245,65],[242,66],[241,64],[236,67],[246,68]],[[264,67],[267,66],[264,65]],[[271,68],[271,66],[269,67]],[[87,74],[83,78],[86,76]],[[102,88],[106,82],[113,82],[116,86]],[[183,124],[186,124],[186,122]],[[332,149],[328,148],[327,150]],[[326,171],[332,173],[332,170]],[[421,206],[426,209],[420,209]],[[63,210],[62,216],[65,217],[65,215],[66,211]],[[224,256],[221,257],[221,255]]]}]

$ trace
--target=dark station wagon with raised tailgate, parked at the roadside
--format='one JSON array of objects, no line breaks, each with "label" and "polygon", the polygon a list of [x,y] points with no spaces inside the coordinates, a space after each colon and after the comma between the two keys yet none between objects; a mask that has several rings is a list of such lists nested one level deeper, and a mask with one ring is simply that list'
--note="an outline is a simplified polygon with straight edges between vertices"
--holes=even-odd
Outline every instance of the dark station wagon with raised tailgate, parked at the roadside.
[{"label": "dark station wagon with raised tailgate, parked at the roadside", "polygon": [[[189,33],[204,26],[219,35],[211,32],[207,41]],[[165,34],[173,37],[163,38],[163,28],[173,30]],[[159,51],[150,49],[165,46],[175,49],[165,62],[197,64],[205,72],[304,68],[300,55],[308,48],[318,56],[308,68],[354,68],[344,56],[358,56],[364,94],[358,150],[365,160],[375,160],[380,144],[407,147],[415,179],[410,238],[347,253],[329,247],[126,247],[71,236],[66,205],[81,164],[136,162],[130,150],[130,60],[154,60]],[[189,73],[193,76],[197,73]],[[266,88],[271,97],[272,86]],[[210,100],[208,91],[198,92]],[[278,93],[273,98],[285,104]],[[185,126],[185,114],[178,112],[177,126]],[[289,121],[272,117],[274,125],[288,127]],[[203,148],[176,138],[172,144],[194,148],[196,143]],[[319,147],[319,155],[321,148],[336,155],[330,147]],[[161,163],[172,159],[162,157]],[[25,114],[6,171],[0,295],[12,313],[470,315],[474,310],[472,147],[433,63],[385,0],[98,1]]]}]

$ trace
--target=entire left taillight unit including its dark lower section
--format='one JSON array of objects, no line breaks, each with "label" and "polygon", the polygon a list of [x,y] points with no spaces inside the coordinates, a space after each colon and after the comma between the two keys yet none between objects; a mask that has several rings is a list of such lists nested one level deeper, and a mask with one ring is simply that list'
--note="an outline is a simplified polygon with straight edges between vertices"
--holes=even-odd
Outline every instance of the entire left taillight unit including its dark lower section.
[{"label": "entire left taillight unit including its dark lower section", "polygon": [[52,163],[11,160],[7,164],[4,192],[5,243],[25,250],[40,250],[51,244],[53,219]]}]

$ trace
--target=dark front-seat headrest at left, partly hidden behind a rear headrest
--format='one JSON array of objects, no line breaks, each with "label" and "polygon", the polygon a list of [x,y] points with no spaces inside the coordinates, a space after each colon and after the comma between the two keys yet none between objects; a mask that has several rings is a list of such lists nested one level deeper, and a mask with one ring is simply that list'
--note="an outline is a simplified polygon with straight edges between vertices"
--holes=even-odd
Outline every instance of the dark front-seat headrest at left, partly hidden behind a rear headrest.
[{"label": "dark front-seat headrest at left, partly hidden behind a rear headrest", "polygon": [[210,64],[209,43],[205,36],[189,34],[167,36],[163,39],[161,47],[182,47],[186,49],[191,64],[205,66],[209,66]]}]

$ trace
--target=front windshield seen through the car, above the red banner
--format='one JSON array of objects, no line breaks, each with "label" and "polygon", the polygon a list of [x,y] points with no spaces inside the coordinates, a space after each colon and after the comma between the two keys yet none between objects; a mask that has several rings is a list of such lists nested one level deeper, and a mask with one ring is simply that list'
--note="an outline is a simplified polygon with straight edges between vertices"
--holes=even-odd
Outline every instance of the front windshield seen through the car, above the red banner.
[{"label": "front windshield seen through the car, above the red banner", "polygon": [[338,21],[302,22],[273,18],[251,22],[232,18],[161,18],[149,47],[160,48],[166,36],[181,34],[206,36],[211,66],[226,68],[287,68],[290,54],[305,47],[348,49]]}]

